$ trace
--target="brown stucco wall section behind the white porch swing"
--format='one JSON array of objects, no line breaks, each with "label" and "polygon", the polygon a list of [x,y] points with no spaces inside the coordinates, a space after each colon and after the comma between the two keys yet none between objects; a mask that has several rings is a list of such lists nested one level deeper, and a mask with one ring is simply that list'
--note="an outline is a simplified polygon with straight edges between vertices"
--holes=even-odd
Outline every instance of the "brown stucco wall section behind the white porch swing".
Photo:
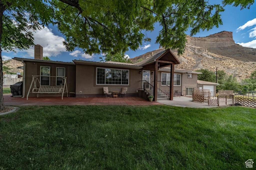
[{"label": "brown stucco wall section behind the white porch swing", "polygon": [[[40,75],[40,66],[49,66],[50,76],[56,76],[56,67],[65,68],[65,77],[67,77],[68,92],[75,92],[75,89],[76,89],[76,66],[75,65],[28,62],[28,61],[24,61],[24,62],[26,64],[25,96],[27,96],[27,93],[32,81],[32,75]],[[50,86],[56,86],[55,77],[50,77]],[[39,87],[39,83],[37,83],[37,87]],[[33,88],[34,88],[34,85],[32,85],[30,92],[32,91]],[[61,95],[62,94],[39,94],[39,97],[40,96],[61,96]],[[65,95],[67,95],[67,93],[64,93],[63,96]],[[29,93],[29,97],[35,97],[35,96],[37,96],[36,93]]]}]

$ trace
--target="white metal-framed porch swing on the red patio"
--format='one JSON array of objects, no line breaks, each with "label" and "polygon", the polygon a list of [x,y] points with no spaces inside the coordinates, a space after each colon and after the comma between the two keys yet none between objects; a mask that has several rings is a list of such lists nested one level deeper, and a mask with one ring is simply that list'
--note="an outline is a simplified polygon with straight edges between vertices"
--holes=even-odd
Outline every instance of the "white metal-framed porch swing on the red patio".
[{"label": "white metal-framed porch swing on the red patio", "polygon": [[[44,76],[32,76],[32,81],[28,90],[28,94],[27,94],[27,100],[28,100],[28,95],[29,93],[37,93],[37,97],[38,94],[59,94],[62,93],[61,99],[63,100],[63,94],[67,93],[67,97],[68,97],[68,88],[67,88],[67,77],[62,78],[62,83],[61,86],[45,86],[45,85],[41,85],[40,81],[38,78],[40,77],[44,77]],[[47,77],[57,77],[57,76],[47,76]],[[60,77],[58,77],[60,78]],[[37,82],[39,83],[39,88],[36,86]],[[31,87],[34,83],[34,88],[32,89],[32,92],[30,92]],[[66,88],[66,91],[65,91]]]}]

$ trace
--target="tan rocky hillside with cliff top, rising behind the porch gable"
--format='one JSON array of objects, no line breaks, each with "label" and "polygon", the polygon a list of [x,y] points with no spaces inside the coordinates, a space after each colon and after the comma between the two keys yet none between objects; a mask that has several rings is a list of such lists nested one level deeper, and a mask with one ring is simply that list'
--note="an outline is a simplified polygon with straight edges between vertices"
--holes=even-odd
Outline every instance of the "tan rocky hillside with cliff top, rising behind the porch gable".
[{"label": "tan rocky hillside with cliff top, rising behind the porch gable", "polygon": [[[145,59],[164,48],[131,58],[133,63]],[[172,51],[176,56],[177,52]],[[233,40],[232,32],[222,31],[207,37],[187,36],[185,53],[177,56],[180,64],[176,68],[198,70],[201,68],[216,70],[216,67],[225,70],[229,75],[236,76],[238,80],[248,78],[256,70],[256,49],[243,47]]]}]

